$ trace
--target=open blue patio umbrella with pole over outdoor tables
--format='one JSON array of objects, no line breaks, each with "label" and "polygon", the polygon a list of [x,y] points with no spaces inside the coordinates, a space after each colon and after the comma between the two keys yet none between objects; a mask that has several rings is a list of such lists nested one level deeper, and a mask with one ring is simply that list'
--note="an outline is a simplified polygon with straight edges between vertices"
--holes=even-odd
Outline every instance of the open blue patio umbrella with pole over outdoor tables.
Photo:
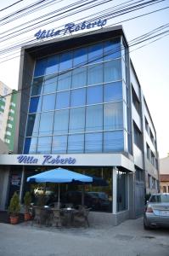
[{"label": "open blue patio umbrella with pole over outdoor tables", "polygon": [[[72,172],[63,168],[53,169],[47,172],[42,172],[31,177],[27,177],[27,182],[35,183],[92,183],[93,177],[87,175]],[[59,193],[58,193],[59,194]],[[58,205],[59,205],[59,195],[58,195]]]}]

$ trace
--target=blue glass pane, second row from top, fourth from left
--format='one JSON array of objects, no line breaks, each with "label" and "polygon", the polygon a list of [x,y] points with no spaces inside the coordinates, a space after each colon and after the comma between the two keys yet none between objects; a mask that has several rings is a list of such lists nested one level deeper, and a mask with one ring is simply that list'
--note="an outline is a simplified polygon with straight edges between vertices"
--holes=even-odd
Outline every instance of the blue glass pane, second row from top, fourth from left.
[{"label": "blue glass pane, second row from top, fourth from left", "polygon": [[72,72],[71,88],[82,87],[87,84],[87,67],[78,67]]}]

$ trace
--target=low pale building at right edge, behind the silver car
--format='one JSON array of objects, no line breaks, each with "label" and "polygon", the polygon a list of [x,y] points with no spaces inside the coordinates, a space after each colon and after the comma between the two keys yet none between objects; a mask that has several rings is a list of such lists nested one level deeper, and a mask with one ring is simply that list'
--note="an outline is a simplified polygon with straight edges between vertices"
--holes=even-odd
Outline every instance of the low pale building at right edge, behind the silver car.
[{"label": "low pale building at right edge, behind the silver car", "polygon": [[169,193],[169,156],[160,160],[161,193]]}]

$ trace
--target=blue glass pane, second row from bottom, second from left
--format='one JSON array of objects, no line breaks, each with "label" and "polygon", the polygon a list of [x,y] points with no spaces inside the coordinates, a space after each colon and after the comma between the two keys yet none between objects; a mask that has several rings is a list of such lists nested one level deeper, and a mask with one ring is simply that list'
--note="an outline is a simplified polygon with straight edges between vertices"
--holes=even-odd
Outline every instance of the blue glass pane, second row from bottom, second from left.
[{"label": "blue glass pane, second row from bottom, second from left", "polygon": [[53,132],[54,112],[41,113],[39,135],[51,135]]}]

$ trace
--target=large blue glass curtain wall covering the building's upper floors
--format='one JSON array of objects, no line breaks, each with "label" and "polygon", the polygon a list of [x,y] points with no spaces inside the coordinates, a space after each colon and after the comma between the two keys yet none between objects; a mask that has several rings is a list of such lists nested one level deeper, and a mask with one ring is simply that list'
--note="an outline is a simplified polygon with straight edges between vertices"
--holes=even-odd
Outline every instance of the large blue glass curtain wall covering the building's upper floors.
[{"label": "large blue glass curtain wall covering the building's upper floors", "polygon": [[121,38],[37,60],[24,153],[124,151],[124,63]]}]

